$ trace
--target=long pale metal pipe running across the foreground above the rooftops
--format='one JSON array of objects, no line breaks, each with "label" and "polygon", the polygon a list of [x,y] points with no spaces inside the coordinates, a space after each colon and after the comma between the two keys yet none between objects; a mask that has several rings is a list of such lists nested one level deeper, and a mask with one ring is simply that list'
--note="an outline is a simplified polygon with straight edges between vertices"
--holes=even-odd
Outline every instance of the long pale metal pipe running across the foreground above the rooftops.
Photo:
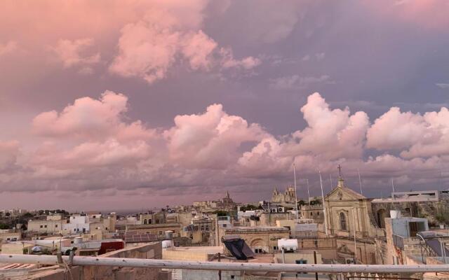
[{"label": "long pale metal pipe running across the foreground above the rooftops", "polygon": [[[68,256],[62,256],[69,262]],[[12,255],[0,254],[4,263],[36,263],[40,265],[58,265],[56,255]],[[185,260],[154,260],[139,258],[102,258],[75,256],[73,265],[166,268],[166,269],[202,269],[264,272],[324,272],[324,273],[401,273],[401,272],[449,272],[449,265],[295,265],[261,262],[205,262]]]}]

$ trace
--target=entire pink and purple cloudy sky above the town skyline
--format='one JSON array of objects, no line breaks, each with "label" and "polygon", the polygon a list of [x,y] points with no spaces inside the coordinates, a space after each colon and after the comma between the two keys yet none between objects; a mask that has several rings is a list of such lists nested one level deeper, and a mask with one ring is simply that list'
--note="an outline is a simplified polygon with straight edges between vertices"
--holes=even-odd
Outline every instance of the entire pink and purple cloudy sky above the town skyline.
[{"label": "entire pink and purple cloudy sky above the town skyline", "polygon": [[[449,1],[6,0],[0,209],[449,188]],[[332,184],[330,177],[333,178]]]}]

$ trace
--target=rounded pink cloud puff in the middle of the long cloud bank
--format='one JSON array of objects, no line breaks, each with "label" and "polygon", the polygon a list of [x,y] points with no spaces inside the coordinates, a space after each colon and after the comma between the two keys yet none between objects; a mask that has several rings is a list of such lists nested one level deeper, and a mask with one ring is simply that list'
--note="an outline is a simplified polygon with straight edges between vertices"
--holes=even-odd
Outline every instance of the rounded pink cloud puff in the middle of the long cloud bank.
[{"label": "rounded pink cloud puff in the middle of the long cloud bank", "polygon": [[176,116],[175,126],[164,132],[170,158],[187,167],[222,168],[238,158],[243,143],[266,134],[257,124],[229,116],[221,104],[208,106],[201,115]]}]

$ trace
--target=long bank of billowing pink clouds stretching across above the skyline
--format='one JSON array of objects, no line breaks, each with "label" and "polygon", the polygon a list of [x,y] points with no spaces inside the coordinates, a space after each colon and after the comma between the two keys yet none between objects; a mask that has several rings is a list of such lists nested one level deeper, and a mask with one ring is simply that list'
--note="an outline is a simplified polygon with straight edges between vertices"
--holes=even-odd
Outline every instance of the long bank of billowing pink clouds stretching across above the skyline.
[{"label": "long bank of billowing pink clouds stretching across above the skyline", "polygon": [[[128,121],[127,112],[128,97],[106,91],[39,114],[32,130],[41,141],[20,152],[20,160],[18,142],[0,142],[4,190],[249,190],[290,181],[293,162],[301,176],[335,172],[337,164],[348,177],[360,169],[366,186],[377,188],[385,178],[433,182],[436,170],[449,167],[445,108],[424,115],[392,108],[370,125],[365,112],[332,109],[316,92],[300,109],[306,126],[283,136],[221,104],[175,116],[166,128]],[[379,153],[366,155],[368,148]]]}]

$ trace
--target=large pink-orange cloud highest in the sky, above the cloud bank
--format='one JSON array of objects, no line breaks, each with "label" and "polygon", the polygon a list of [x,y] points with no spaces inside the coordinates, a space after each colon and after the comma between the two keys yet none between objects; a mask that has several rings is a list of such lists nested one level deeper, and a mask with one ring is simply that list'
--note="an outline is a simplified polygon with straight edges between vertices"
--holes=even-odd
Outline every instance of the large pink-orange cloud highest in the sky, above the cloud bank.
[{"label": "large pink-orange cloud highest in the sky, above the cloud bank", "polygon": [[232,50],[218,48],[217,42],[201,30],[203,9],[207,1],[194,1],[180,7],[161,2],[147,12],[145,18],[121,29],[119,54],[109,71],[120,76],[143,78],[147,83],[166,78],[179,59],[186,59],[193,70],[220,68],[252,69],[260,59],[234,59]]}]

